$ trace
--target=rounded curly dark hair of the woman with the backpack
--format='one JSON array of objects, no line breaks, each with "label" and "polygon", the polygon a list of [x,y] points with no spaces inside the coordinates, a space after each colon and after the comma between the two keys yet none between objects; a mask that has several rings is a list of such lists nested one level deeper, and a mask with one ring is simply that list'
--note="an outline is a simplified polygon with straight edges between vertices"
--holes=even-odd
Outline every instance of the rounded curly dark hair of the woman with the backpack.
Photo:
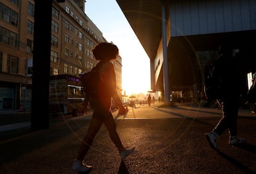
[{"label": "rounded curly dark hair of the woman with the backpack", "polygon": [[117,46],[109,42],[101,42],[93,48],[92,52],[96,60],[115,60],[119,55]]}]

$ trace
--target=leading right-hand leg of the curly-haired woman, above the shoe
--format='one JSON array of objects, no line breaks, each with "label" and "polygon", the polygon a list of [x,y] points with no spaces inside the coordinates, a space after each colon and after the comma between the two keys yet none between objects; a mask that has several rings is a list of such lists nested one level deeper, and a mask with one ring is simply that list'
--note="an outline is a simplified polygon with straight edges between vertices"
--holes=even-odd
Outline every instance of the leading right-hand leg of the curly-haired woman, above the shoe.
[{"label": "leading right-hand leg of the curly-haired woman, above the shoe", "polygon": [[117,149],[119,151],[124,150],[125,148],[124,146],[122,146],[122,142],[119,138],[118,133],[116,132],[116,122],[114,122],[114,118],[111,112],[109,112],[109,117],[104,121],[104,124],[106,125],[106,128],[109,132],[109,136],[113,143],[116,145]]}]

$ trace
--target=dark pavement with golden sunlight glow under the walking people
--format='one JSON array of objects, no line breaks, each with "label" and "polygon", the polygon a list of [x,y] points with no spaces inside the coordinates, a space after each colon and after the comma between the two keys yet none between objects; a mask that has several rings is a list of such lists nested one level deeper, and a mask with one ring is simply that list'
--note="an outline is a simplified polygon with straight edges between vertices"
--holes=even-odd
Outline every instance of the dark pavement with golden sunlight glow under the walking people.
[{"label": "dark pavement with golden sunlight glow under the walking people", "polygon": [[[230,146],[227,130],[218,139],[218,151],[204,134],[218,123],[220,110],[158,102],[128,109],[126,115],[113,111],[113,117],[122,143],[135,146],[134,153],[122,160],[103,126],[85,156],[93,165],[90,173],[256,173],[256,114],[249,109],[239,109],[237,119],[246,143]],[[72,161],[91,117],[92,112],[57,117],[49,129],[33,132],[29,113],[0,113],[0,173],[74,173]]]}]

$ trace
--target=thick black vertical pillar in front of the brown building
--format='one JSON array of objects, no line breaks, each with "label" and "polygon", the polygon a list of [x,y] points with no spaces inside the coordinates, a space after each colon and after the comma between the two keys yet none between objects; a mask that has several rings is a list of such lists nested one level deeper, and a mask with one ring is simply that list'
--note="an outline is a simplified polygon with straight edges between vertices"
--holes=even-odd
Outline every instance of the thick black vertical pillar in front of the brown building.
[{"label": "thick black vertical pillar in front of the brown building", "polygon": [[53,0],[35,0],[31,129],[49,128],[51,10]]}]

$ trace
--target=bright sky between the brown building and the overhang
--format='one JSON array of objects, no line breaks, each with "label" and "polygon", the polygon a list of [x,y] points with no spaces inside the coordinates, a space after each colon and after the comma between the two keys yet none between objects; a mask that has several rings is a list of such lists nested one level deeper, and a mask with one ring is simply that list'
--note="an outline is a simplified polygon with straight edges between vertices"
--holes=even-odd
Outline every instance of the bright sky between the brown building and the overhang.
[{"label": "bright sky between the brown building and the overhang", "polygon": [[[150,90],[150,59],[116,0],[87,0],[85,14],[122,57],[122,89],[126,95]],[[124,91],[122,92],[124,94]]]}]

